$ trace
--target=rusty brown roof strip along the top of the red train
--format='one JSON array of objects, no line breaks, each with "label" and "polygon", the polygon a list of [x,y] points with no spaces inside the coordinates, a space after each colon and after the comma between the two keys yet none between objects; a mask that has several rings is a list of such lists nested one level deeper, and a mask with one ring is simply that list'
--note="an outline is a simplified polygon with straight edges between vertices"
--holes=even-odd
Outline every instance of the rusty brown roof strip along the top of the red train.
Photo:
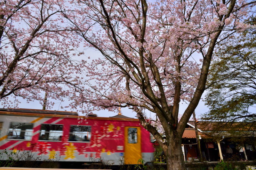
[{"label": "rusty brown roof strip along the top of the red train", "polygon": [[[77,112],[70,111],[55,111],[55,110],[37,110],[37,109],[3,109],[0,108],[0,115],[10,115],[10,116],[28,116],[28,117],[60,117],[60,118],[78,118],[84,117],[78,115]],[[131,118],[131,117],[91,117],[89,116],[87,119],[94,120],[118,120],[118,121],[139,121],[139,119]]]}]

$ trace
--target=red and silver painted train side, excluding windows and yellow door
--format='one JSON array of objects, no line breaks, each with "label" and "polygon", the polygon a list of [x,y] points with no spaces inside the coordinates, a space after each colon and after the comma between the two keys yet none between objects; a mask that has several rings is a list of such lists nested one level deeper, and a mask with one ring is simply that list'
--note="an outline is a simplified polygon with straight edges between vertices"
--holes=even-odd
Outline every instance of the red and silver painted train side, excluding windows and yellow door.
[{"label": "red and silver painted train side, excluding windows and yellow door", "polygon": [[[91,162],[97,161],[98,158],[107,160],[114,165],[123,164],[125,159],[124,129],[127,126],[141,128],[141,156],[145,162],[153,160],[153,145],[150,143],[149,132],[146,131],[138,121],[124,120],[108,120],[97,118],[83,121],[77,126],[77,118],[59,118],[59,117],[28,117],[28,116],[7,116],[0,115],[0,121],[3,122],[0,136],[0,150],[6,149],[8,152],[31,151],[36,156],[42,156],[41,160],[53,159],[58,161],[78,161]],[[8,137],[10,133],[11,122],[24,122],[33,124],[33,130],[30,135],[31,139],[11,139]],[[57,124],[62,127],[62,132],[53,131],[55,138],[61,136],[61,139],[40,140],[43,132],[42,126],[45,124]],[[71,132],[71,129],[79,129],[77,127],[88,127],[90,132],[87,133],[88,139],[84,141],[76,141],[78,136],[86,136],[84,132]],[[72,128],[71,128],[72,127]],[[27,132],[25,132],[27,133]],[[28,133],[27,133],[28,134]],[[72,139],[72,135],[74,139]],[[30,138],[26,136],[26,138]],[[60,140],[60,141],[58,141]],[[81,140],[81,138],[79,139]]]}]

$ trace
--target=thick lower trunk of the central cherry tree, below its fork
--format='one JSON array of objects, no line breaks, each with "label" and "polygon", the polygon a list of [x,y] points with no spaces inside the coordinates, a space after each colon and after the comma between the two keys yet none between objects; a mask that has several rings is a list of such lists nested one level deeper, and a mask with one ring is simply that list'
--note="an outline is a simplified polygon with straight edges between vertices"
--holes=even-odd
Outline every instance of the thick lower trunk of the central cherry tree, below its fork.
[{"label": "thick lower trunk of the central cherry tree, below its fork", "polygon": [[183,152],[181,149],[181,138],[172,137],[171,145],[168,146],[167,149],[167,169],[168,170],[184,170],[185,169],[185,161]]}]

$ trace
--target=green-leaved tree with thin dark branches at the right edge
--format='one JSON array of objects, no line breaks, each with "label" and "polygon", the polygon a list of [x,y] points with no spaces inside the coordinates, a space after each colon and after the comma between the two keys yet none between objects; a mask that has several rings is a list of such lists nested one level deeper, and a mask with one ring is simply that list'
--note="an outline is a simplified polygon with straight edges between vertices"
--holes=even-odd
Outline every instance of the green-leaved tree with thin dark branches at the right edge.
[{"label": "green-leaved tree with thin dark branches at the right edge", "polygon": [[244,32],[236,41],[224,41],[216,49],[205,97],[210,111],[202,119],[227,122],[218,125],[219,131],[229,128],[236,136],[251,136],[256,130],[255,56],[255,31]]}]

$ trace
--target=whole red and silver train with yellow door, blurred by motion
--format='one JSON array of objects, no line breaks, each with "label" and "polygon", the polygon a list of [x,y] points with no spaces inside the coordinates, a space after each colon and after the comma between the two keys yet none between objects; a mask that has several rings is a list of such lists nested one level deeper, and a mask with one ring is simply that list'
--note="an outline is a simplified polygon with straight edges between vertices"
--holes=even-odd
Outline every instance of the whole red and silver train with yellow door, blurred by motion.
[{"label": "whole red and silver train with yellow door, blurred by motion", "polygon": [[76,114],[0,109],[0,151],[31,151],[42,156],[41,160],[89,162],[102,158],[114,165],[153,160],[150,134],[138,119],[88,117],[81,121],[83,117]]}]

